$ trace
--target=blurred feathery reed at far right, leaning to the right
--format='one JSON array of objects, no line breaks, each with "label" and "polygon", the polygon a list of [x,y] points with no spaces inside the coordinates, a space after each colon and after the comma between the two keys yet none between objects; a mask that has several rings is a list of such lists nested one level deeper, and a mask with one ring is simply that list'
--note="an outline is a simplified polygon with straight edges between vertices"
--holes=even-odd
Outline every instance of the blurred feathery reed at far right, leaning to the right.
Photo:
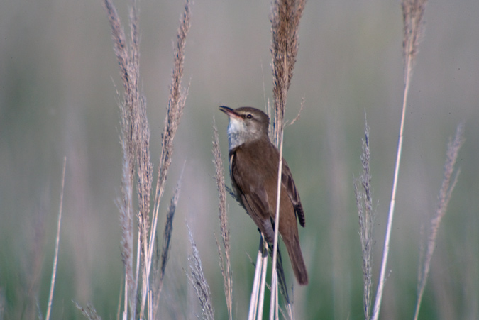
[{"label": "blurred feathery reed at far right, leaning to the right", "polygon": [[456,165],[456,160],[458,157],[459,149],[464,143],[464,126],[461,123],[456,129],[456,136],[453,140],[449,139],[447,153],[446,153],[446,162],[444,163],[444,177],[441,184],[441,189],[439,189],[438,201],[436,204],[436,212],[434,213],[433,218],[431,219],[431,224],[429,226],[429,237],[427,239],[426,253],[424,259],[422,259],[422,264],[419,266],[418,274],[418,287],[417,287],[417,302],[416,310],[414,311],[414,319],[417,319],[419,316],[419,308],[421,307],[422,296],[424,294],[424,288],[426,287],[427,277],[429,276],[429,270],[431,267],[431,258],[434,253],[434,248],[436,248],[436,238],[441,226],[441,220],[446,214],[447,206],[449,200],[451,199],[451,194],[456,183],[458,181],[458,175],[460,170],[457,170],[456,175],[453,176],[454,165]]}]

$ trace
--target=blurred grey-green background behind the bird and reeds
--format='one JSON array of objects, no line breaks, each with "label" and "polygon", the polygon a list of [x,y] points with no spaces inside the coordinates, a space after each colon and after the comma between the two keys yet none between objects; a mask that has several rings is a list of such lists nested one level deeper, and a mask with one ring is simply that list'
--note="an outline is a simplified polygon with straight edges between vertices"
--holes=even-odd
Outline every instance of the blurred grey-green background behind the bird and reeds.
[{"label": "blurred grey-green background behind the bird and reeds", "polygon": [[[128,3],[115,1],[123,17]],[[195,1],[187,38],[185,114],[162,212],[183,163],[165,319],[199,312],[187,284],[186,224],[197,241],[217,319],[226,307],[214,233],[219,234],[211,140],[222,152],[221,104],[263,108],[272,97],[270,1]],[[152,161],[158,163],[182,1],[141,1],[141,77]],[[448,137],[461,121],[466,143],[439,230],[420,319],[479,319],[479,1],[431,1],[414,69],[381,319],[410,319],[416,299],[421,226],[434,212]],[[126,28],[128,31],[128,28]],[[382,243],[402,106],[400,1],[309,1],[288,95],[284,153],[302,197],[300,231],[310,284],[294,287],[297,319],[363,319],[363,280],[353,175],[364,114],[370,126],[375,220],[374,280]],[[72,300],[115,319],[121,147],[115,85],[122,89],[101,1],[0,3],[0,301],[5,319],[45,314],[63,158],[67,157],[53,319],[83,319]],[[227,178],[229,184],[229,178]],[[229,198],[233,314],[248,308],[258,233]],[[163,228],[164,216],[160,219]],[[289,269],[289,262],[288,272]],[[294,282],[289,273],[290,283]]]}]

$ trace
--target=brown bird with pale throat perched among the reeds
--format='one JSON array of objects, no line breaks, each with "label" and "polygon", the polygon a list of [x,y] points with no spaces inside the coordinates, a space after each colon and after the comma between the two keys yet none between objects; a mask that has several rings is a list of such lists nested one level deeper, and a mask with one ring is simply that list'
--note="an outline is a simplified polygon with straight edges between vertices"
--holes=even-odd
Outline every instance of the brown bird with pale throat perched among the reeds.
[{"label": "brown bird with pale throat perched among the reeds", "polygon": [[[270,119],[249,106],[219,109],[229,116],[229,169],[238,201],[265,235],[268,243],[275,237],[277,169],[280,153],[268,138]],[[304,211],[287,162],[282,160],[280,192],[280,235],[290,255],[292,269],[299,285],[307,285],[297,221],[304,227]]]}]

